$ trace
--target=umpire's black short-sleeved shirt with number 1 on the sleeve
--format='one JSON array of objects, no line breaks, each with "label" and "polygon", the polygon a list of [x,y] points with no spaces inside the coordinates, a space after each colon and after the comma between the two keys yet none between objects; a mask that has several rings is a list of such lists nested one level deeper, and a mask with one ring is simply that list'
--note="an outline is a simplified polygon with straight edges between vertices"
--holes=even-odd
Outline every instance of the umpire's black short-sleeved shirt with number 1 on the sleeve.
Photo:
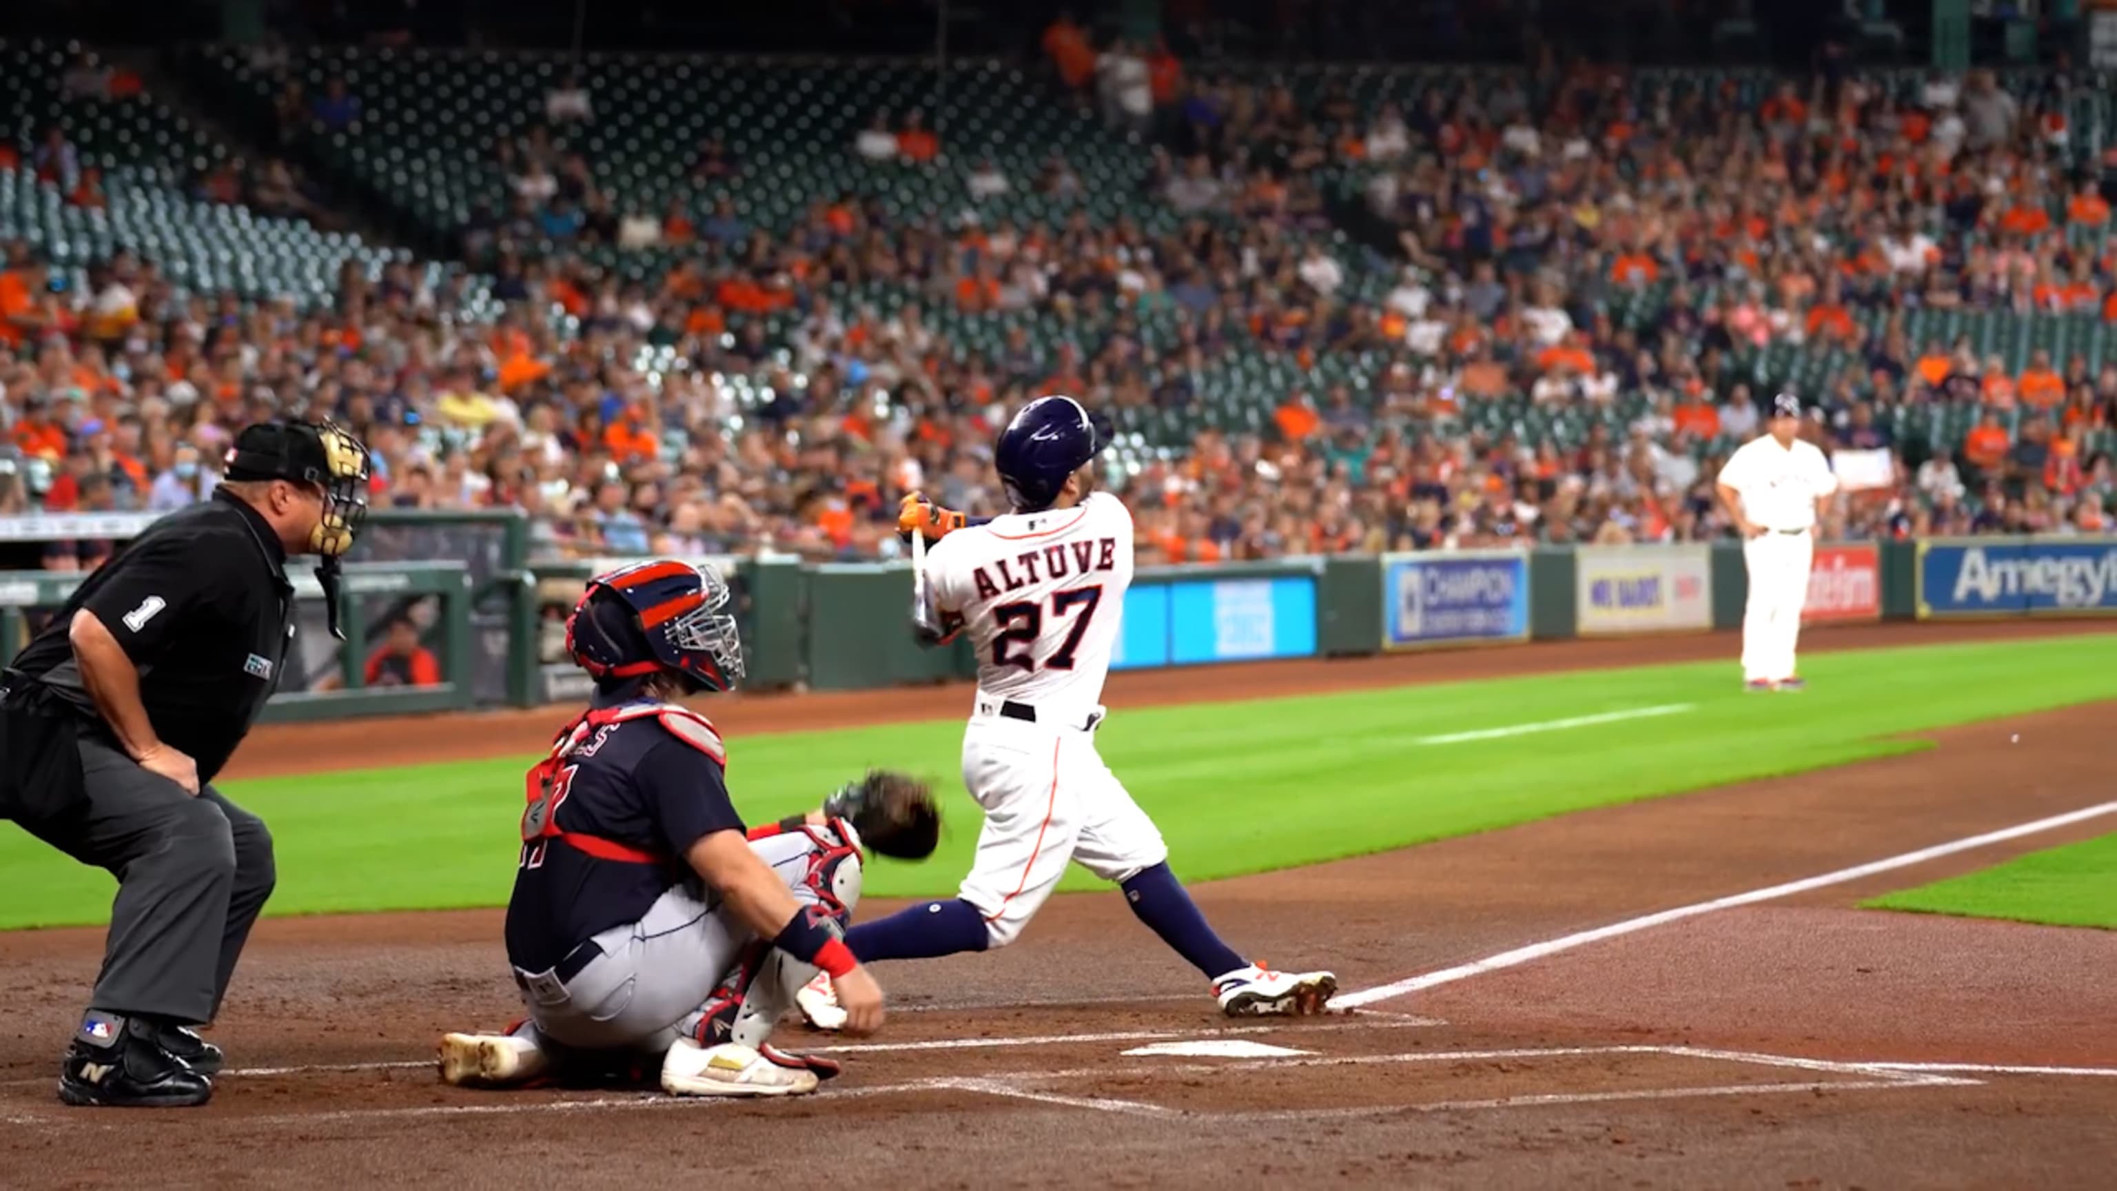
[{"label": "umpire's black short-sleeved shirt with number 1 on the sleeve", "polygon": [[140,668],[140,701],[163,744],[212,782],[250,733],[294,638],[294,587],[279,534],[246,500],[212,500],[155,521],[74,589],[66,610],[15,657],[106,735],[68,640],[87,608]]}]

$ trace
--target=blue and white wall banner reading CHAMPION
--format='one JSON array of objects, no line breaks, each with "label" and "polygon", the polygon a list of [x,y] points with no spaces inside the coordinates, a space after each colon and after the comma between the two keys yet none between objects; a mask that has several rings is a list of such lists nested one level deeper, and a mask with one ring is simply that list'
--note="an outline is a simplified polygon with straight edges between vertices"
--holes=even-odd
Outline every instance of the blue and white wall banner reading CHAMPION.
[{"label": "blue and white wall banner reading CHAMPION", "polygon": [[1528,555],[1382,557],[1382,646],[1528,638]]}]

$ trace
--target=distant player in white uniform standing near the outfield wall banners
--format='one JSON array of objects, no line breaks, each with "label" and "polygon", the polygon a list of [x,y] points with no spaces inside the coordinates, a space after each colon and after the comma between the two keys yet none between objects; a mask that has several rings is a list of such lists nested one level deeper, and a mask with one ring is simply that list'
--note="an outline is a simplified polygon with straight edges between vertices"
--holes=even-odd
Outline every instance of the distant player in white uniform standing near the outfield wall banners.
[{"label": "distant player in white uniform standing near the outfield wall banners", "polygon": [[1742,610],[1742,680],[1751,691],[1799,691],[1793,665],[1816,559],[1816,511],[1838,477],[1814,443],[1804,443],[1802,398],[1772,398],[1768,432],[1742,443],[1719,473],[1719,498],[1742,534],[1749,606]]}]

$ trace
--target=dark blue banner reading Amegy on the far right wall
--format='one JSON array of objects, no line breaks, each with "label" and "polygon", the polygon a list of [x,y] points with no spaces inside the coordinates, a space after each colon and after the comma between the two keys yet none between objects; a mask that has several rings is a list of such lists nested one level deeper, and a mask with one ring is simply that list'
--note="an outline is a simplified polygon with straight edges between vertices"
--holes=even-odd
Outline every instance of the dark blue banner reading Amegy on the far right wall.
[{"label": "dark blue banner reading Amegy on the far right wall", "polygon": [[2117,543],[1918,543],[1918,617],[2062,617],[2117,610]]}]

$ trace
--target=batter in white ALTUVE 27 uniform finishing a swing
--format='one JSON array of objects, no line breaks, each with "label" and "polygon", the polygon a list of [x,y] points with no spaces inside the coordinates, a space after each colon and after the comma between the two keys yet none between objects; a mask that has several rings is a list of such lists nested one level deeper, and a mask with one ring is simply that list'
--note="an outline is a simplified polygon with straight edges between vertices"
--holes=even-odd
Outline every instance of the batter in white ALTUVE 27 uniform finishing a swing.
[{"label": "batter in white ALTUVE 27 uniform finishing a swing", "polygon": [[[1126,905],[1213,981],[1230,1017],[1315,1013],[1332,973],[1251,964],[1207,926],[1169,871],[1169,846],[1094,750],[1103,678],[1133,583],[1133,513],[1094,487],[1109,441],[1071,396],[1031,401],[1001,430],[993,464],[1014,506],[972,521],[906,498],[906,528],[940,536],[915,581],[915,632],[970,632],[978,695],[963,731],[963,784],[984,807],[978,856],[951,901],[847,930],[862,962],[984,952],[1012,943],[1069,860],[1116,882]],[[809,1019],[838,1021],[828,977],[800,994]]]}]

